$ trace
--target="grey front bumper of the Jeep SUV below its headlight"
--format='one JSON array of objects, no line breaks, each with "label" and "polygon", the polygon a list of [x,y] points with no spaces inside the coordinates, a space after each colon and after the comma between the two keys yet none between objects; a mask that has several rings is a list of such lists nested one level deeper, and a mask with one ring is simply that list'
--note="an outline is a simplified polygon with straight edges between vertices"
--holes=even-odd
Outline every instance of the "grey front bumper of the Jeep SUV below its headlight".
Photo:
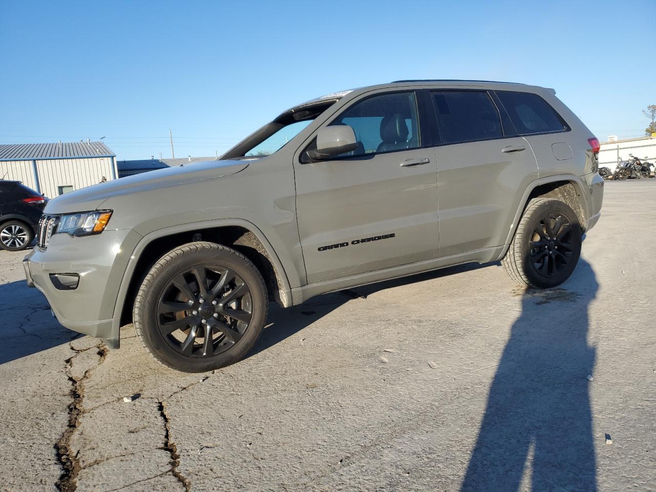
[{"label": "grey front bumper of the Jeep SUV below its headlight", "polygon": [[[141,236],[106,230],[97,236],[55,234],[47,249],[35,247],[23,260],[30,287],[43,293],[64,327],[116,344],[120,318],[112,318],[127,262]],[[77,274],[75,289],[58,289],[51,274]]]}]

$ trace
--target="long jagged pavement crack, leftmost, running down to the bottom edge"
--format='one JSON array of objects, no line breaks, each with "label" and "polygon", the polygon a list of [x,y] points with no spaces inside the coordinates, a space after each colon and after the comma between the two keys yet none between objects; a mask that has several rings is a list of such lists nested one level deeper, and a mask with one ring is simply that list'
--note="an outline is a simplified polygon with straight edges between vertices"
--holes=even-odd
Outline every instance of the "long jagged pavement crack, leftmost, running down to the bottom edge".
[{"label": "long jagged pavement crack, leftmost, running down to the bottom edge", "polygon": [[[102,344],[102,342],[99,342],[98,344],[89,348],[77,349],[72,346],[70,346],[70,348],[73,350],[73,352],[75,352],[75,355],[66,359],[66,367],[64,368],[64,372],[66,373],[66,376],[72,385],[70,396],[73,398],[73,401],[70,403],[70,405],[68,405],[68,427],[66,430],[64,430],[60,440],[57,441],[54,445],[54,449],[57,453],[57,459],[59,460],[63,469],[62,475],[60,476],[59,480],[57,480],[55,485],[62,492],[75,492],[75,489],[77,489],[77,476],[82,470],[82,467],[80,466],[77,454],[73,454],[73,450],[70,447],[70,440],[79,427],[80,416],[83,415],[83,413],[86,413],[82,406],[82,400],[84,398],[84,383],[91,374],[91,371],[103,363],[107,357],[108,352],[108,349]],[[94,365],[94,367],[87,369],[80,379],[75,379],[71,373],[73,360],[82,352],[86,352],[87,350],[91,350],[93,348],[98,350],[98,363]]]}]

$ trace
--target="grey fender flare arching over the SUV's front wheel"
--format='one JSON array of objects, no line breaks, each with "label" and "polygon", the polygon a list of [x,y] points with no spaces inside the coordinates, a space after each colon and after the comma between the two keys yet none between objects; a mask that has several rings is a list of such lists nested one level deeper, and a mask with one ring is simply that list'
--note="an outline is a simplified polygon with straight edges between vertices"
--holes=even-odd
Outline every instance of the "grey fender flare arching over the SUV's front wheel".
[{"label": "grey fender flare arching over the SUV's front wheel", "polygon": [[179,224],[177,226],[170,226],[163,229],[155,230],[153,232],[149,232],[148,234],[146,234],[146,236],[143,236],[137,243],[136,247],[134,247],[134,251],[132,252],[132,255],[130,256],[130,260],[125,268],[125,272],[123,272],[123,278],[121,279],[121,285],[119,287],[116,296],[116,302],[114,304],[113,318],[121,317],[121,314],[123,312],[123,305],[125,304],[125,297],[127,296],[127,291],[130,287],[130,283],[134,275],[136,264],[141,258],[141,255],[146,249],[146,247],[152,241],[154,241],[155,239],[159,239],[160,237],[171,236],[172,234],[178,234],[180,232],[190,232],[198,229],[207,229],[207,228],[225,227],[225,226],[243,227],[246,230],[249,230],[252,234],[254,234],[255,237],[258,239],[258,241],[262,243],[264,250],[266,251],[267,255],[271,260],[272,266],[274,267],[274,272],[276,274],[277,281],[279,283],[279,292],[277,293],[277,296],[279,297],[279,302],[284,307],[291,306],[291,302],[292,302],[291,287],[289,286],[289,279],[287,279],[287,273],[285,272],[285,269],[283,268],[283,265],[280,262],[280,259],[278,258],[276,251],[274,250],[274,248],[272,247],[271,243],[266,238],[266,236],[264,236],[262,231],[257,226],[255,226],[255,224],[253,224],[252,222],[243,220],[241,218],[222,218],[216,220],[203,220],[201,222],[190,222],[188,224]]}]

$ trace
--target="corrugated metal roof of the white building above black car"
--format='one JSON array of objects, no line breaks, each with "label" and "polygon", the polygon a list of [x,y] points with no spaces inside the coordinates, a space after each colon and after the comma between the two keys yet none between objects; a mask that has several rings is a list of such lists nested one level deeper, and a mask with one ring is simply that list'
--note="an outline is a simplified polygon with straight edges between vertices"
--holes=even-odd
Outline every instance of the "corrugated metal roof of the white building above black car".
[{"label": "corrugated metal roof of the white building above black car", "polygon": [[102,142],[61,142],[55,144],[3,144],[0,160],[60,159],[62,157],[100,157],[115,154]]}]

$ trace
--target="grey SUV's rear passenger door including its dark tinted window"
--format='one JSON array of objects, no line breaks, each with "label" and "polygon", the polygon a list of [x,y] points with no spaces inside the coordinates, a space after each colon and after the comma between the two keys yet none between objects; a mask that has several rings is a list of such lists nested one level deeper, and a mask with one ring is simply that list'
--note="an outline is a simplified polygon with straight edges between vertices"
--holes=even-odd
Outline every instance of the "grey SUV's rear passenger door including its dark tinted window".
[{"label": "grey SUV's rear passenger door including its dark tinted window", "polygon": [[431,91],[440,134],[440,256],[504,243],[535,156],[485,90]]}]

